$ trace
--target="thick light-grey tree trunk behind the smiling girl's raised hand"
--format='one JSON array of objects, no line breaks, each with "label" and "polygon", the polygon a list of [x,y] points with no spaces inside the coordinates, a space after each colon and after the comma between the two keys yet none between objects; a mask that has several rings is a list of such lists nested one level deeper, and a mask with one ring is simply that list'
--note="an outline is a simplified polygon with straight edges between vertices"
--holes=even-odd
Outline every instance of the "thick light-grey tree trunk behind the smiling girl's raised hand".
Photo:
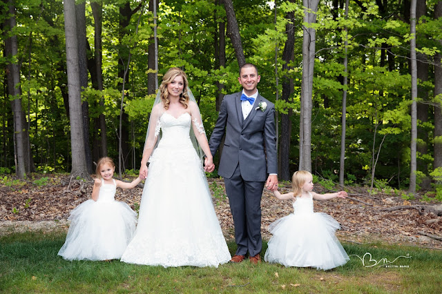
[{"label": "thick light-grey tree trunk behind the smiling girl's raised hand", "polygon": [[81,115],[81,89],[77,47],[77,27],[75,19],[75,0],[65,0],[64,30],[66,35],[66,63],[68,72],[70,146],[72,149],[73,177],[89,179],[84,152],[83,117]]}]

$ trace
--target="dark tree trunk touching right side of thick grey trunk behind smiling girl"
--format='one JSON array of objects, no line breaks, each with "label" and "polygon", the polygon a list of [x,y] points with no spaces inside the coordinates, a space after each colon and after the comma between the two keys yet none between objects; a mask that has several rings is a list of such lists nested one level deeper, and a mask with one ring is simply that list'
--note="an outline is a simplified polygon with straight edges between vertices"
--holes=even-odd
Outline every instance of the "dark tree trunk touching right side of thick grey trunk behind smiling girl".
[{"label": "dark tree trunk touching right side of thick grey trunk behind smiling girl", "polygon": [[[77,46],[80,91],[83,92],[88,86],[88,59],[86,57],[86,2],[79,2],[75,5],[75,17],[77,23]],[[89,144],[89,104],[88,101],[81,101],[81,113],[83,116],[84,155],[88,173],[93,173],[92,153]]]}]

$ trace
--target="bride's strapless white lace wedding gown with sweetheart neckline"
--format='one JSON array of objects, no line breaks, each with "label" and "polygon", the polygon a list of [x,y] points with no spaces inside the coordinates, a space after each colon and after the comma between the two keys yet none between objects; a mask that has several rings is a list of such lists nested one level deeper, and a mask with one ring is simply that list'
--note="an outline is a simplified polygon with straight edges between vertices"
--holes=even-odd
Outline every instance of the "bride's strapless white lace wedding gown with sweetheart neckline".
[{"label": "bride's strapless white lace wedding gown with sweetheart neckline", "polygon": [[149,159],[135,237],[122,262],[215,266],[231,255],[213,209],[202,161],[189,137],[191,115],[160,117],[162,139]]}]

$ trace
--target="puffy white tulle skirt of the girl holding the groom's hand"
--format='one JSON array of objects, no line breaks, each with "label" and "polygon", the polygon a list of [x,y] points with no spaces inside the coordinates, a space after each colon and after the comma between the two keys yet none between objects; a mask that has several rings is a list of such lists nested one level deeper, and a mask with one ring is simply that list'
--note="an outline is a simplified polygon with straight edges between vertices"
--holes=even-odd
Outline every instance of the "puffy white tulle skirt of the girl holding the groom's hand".
[{"label": "puffy white tulle skirt of the girl holding the groom's hand", "polygon": [[284,266],[314,267],[328,270],[345,264],[349,257],[334,235],[340,228],[325,213],[291,213],[269,226],[265,261]]}]

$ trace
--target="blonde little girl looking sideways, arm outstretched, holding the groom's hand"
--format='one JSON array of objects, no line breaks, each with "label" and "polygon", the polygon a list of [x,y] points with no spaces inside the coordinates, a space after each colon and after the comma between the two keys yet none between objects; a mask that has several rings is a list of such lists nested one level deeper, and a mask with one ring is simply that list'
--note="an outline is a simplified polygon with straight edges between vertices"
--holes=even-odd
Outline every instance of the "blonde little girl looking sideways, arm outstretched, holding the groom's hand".
[{"label": "blonde little girl looking sideways, arm outstretched, holding the groom's hand", "polygon": [[312,192],[313,177],[305,170],[294,173],[291,181],[293,192],[282,195],[278,190],[273,192],[278,199],[293,200],[294,213],[270,224],[273,237],[269,240],[265,261],[322,270],[345,264],[349,257],[334,235],[340,225],[330,215],[314,213],[313,199],[345,198],[347,193]]}]

